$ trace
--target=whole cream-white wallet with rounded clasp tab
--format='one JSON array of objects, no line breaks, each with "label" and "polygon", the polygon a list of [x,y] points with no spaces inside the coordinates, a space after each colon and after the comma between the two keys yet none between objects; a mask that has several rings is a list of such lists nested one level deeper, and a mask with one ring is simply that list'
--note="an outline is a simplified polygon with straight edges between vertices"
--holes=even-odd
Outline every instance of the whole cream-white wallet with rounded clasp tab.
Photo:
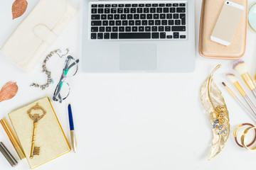
[{"label": "whole cream-white wallet with rounded clasp tab", "polygon": [[75,13],[65,0],[40,0],[11,34],[1,52],[30,72]]}]

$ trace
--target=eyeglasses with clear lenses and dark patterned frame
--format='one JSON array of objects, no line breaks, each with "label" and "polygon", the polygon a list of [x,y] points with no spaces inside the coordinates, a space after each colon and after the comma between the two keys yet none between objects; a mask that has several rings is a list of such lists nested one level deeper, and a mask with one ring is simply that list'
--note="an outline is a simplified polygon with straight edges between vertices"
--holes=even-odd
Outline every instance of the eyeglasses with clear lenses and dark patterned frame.
[{"label": "eyeglasses with clear lenses and dark patterned frame", "polygon": [[72,56],[68,56],[65,60],[65,67],[63,73],[60,77],[60,81],[56,86],[56,89],[53,94],[53,101],[59,101],[60,103],[65,100],[70,94],[70,86],[65,81],[67,77],[73,77],[78,72],[78,62]]}]

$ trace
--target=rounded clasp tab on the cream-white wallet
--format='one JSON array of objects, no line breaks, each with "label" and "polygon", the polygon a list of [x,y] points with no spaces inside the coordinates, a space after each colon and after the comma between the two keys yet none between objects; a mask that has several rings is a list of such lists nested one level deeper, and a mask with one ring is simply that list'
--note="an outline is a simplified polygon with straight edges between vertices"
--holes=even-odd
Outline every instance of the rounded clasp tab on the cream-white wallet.
[{"label": "rounded clasp tab on the cream-white wallet", "polygon": [[38,38],[46,42],[48,45],[52,45],[57,38],[57,35],[43,25],[36,26],[34,28],[34,33],[38,36]]}]

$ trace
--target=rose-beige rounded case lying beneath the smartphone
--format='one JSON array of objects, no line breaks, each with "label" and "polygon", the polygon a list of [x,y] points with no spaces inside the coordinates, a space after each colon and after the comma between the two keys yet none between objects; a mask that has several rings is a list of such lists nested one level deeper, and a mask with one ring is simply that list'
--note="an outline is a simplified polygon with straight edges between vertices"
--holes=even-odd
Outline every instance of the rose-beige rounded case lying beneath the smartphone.
[{"label": "rose-beige rounded case lying beneath the smartphone", "polygon": [[215,23],[218,20],[218,16],[220,15],[220,11],[225,1],[226,0],[203,0],[202,2],[199,53],[203,57],[238,59],[245,54],[247,0],[231,0],[237,4],[245,6],[245,11],[231,44],[225,46],[210,40],[210,35],[213,32]]}]

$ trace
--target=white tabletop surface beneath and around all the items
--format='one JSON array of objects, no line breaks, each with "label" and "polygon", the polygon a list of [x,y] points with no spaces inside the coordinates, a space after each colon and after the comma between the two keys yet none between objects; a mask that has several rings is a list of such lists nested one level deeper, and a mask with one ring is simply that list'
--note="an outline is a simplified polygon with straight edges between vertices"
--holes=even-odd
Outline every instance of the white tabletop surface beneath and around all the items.
[{"label": "white tabletop surface beneath and around all the items", "polygon": [[[26,13],[14,21],[11,19],[13,1],[0,2],[0,46],[31,11],[38,0],[27,0]],[[70,55],[81,58],[81,2],[70,0],[78,15],[50,47],[70,48]],[[255,1],[249,0],[249,6]],[[86,170],[167,170],[167,169],[251,169],[255,167],[256,152],[249,152],[235,144],[232,132],[240,123],[253,123],[240,106],[221,85],[225,81],[235,93],[225,73],[233,72],[230,60],[209,60],[198,54],[198,32],[201,0],[196,0],[196,69],[190,74],[85,74],[81,71],[72,79],[70,96],[63,103],[53,103],[60,124],[70,142],[68,103],[72,103],[78,152],[70,152],[40,169]],[[256,69],[256,33],[248,28],[247,50],[243,59],[252,77]],[[48,54],[46,52],[46,54]],[[0,103],[0,118],[14,109],[38,98],[53,95],[63,69],[64,59],[53,57],[48,62],[55,84],[45,91],[30,87],[33,82],[43,83],[41,61],[33,72],[26,73],[11,60],[0,54],[0,88],[7,81],[16,81],[18,94]],[[215,73],[218,84],[230,112],[230,138],[218,157],[208,161],[212,139],[211,127],[201,105],[199,90],[203,81],[217,65],[223,67]],[[239,77],[247,94],[252,97]],[[252,97],[255,103],[255,98]],[[0,128],[0,141],[11,153],[18,156]],[[0,155],[0,169],[12,169]],[[29,169],[26,159],[19,161],[16,169]]]}]

